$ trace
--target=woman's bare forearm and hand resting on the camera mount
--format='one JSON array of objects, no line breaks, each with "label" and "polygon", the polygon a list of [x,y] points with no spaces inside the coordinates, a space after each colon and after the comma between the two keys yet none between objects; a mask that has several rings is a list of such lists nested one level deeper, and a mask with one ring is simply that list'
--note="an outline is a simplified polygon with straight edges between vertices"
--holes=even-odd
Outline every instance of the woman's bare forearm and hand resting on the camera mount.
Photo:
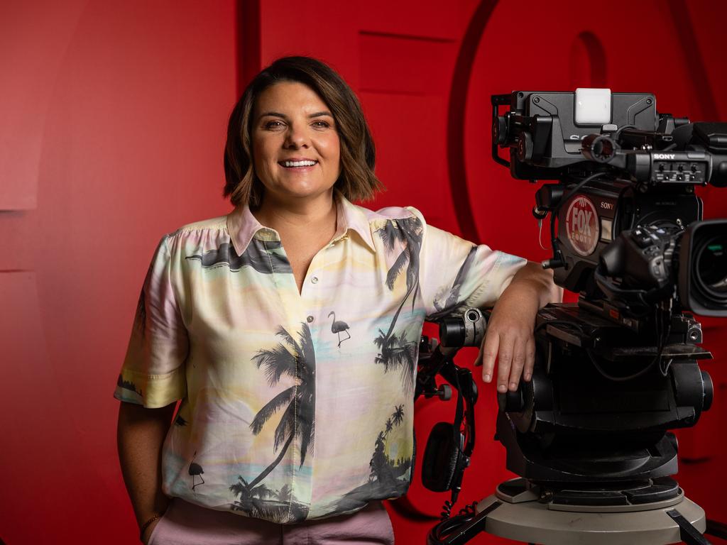
[{"label": "woman's bare forearm and hand resting on the camera mount", "polygon": [[553,271],[528,262],[497,299],[487,323],[485,339],[475,365],[490,382],[497,358],[497,391],[518,389],[521,376],[529,381],[535,363],[535,316],[550,302],[560,302],[563,289],[553,283]]}]

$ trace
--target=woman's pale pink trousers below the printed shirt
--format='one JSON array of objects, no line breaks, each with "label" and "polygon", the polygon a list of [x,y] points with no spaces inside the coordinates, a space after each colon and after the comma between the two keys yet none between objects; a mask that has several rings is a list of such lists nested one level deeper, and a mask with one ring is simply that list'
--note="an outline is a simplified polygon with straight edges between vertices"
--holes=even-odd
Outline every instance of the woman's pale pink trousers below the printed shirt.
[{"label": "woman's pale pink trousers below the printed shirt", "polygon": [[379,501],[361,511],[281,525],[205,509],[174,498],[148,545],[393,545],[389,515]]}]

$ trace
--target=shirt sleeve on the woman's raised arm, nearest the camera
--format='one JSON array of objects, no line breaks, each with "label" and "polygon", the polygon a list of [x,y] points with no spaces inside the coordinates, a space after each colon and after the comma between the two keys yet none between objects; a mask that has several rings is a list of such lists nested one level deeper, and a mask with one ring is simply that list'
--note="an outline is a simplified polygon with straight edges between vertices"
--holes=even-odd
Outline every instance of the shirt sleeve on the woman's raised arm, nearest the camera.
[{"label": "shirt sleeve on the woman's raised arm, nearest the camera", "polygon": [[427,320],[466,307],[491,307],[526,259],[465,241],[424,223],[419,283]]}]

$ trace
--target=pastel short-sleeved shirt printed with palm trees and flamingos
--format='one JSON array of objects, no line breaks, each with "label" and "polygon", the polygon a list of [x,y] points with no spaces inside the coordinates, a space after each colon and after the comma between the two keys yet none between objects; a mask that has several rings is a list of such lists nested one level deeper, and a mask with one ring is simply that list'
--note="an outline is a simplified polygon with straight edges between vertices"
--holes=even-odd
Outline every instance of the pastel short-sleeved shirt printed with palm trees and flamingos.
[{"label": "pastel short-sleeved shirt printed with palm trees and flamingos", "polygon": [[491,305],[525,260],[337,198],[299,292],[247,206],[159,243],[115,397],[182,400],[163,490],[271,522],[354,512],[409,488],[426,318]]}]

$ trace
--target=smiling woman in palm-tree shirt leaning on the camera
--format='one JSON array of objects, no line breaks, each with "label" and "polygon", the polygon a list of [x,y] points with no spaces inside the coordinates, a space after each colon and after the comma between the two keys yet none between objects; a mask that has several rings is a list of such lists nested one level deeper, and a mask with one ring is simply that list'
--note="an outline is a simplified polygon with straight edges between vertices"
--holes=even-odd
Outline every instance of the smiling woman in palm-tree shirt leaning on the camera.
[{"label": "smiling woman in palm-tree shirt leaning on the camera", "polygon": [[423,320],[497,301],[483,378],[499,355],[500,391],[530,379],[551,276],[415,209],[354,206],[373,168],[358,100],[322,62],[277,60],[236,105],[236,208],[162,239],[116,389],[144,543],[393,543],[379,500],[409,486]]}]

